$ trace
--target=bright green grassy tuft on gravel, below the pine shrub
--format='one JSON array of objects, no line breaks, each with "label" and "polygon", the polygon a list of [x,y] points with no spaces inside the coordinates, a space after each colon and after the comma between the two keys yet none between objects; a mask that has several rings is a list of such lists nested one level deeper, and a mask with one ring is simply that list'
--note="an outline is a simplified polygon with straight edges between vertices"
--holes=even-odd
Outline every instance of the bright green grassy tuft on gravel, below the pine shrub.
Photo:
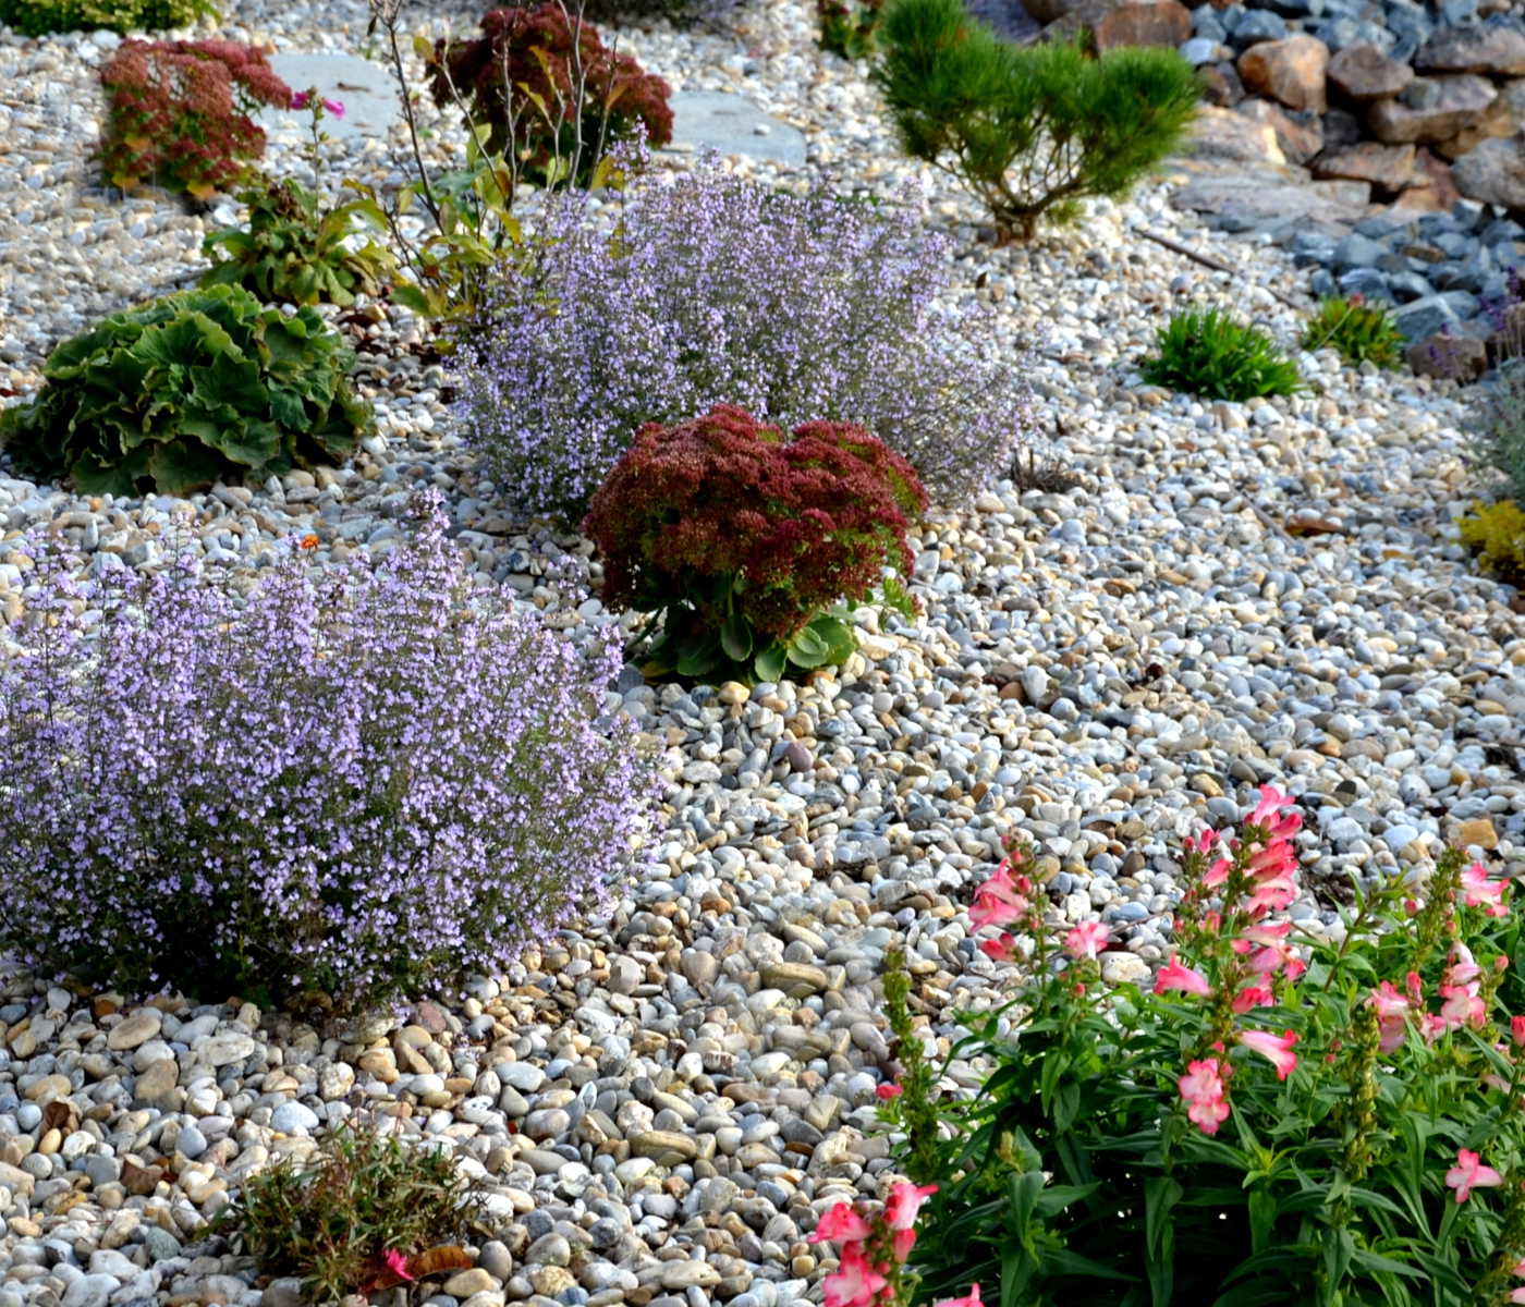
[{"label": "bright green grassy tuft on gravel, below the pine shrub", "polygon": [[1260,328],[1235,322],[1222,308],[1174,313],[1154,340],[1157,357],[1139,368],[1151,386],[1203,400],[1243,403],[1302,389],[1298,364]]}]

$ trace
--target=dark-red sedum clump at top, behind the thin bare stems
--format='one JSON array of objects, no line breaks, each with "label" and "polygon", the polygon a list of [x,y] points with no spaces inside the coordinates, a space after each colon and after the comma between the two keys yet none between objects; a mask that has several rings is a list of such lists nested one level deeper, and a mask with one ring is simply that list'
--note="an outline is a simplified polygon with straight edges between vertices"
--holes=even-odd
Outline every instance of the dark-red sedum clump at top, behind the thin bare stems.
[{"label": "dark-red sedum clump at top, behind the thin bare stems", "polygon": [[616,140],[673,139],[673,88],[608,49],[580,9],[490,9],[482,32],[435,43],[430,93],[441,108],[456,104],[473,130],[486,130],[488,154],[512,151],[541,185],[589,186]]}]

